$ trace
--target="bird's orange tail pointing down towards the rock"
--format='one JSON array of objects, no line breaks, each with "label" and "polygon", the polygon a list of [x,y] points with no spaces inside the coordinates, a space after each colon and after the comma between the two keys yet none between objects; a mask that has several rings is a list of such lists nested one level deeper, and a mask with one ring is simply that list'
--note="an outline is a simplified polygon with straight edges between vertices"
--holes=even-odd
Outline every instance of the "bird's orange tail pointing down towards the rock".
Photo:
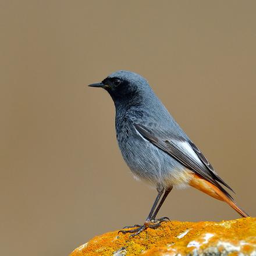
[{"label": "bird's orange tail pointing down towards the rock", "polygon": [[242,217],[250,217],[246,212],[243,211],[231,198],[227,197],[223,191],[221,191],[218,187],[216,187],[211,182],[208,182],[207,180],[203,179],[202,177],[196,175],[193,173],[191,175],[190,180],[190,186],[194,187],[195,189],[198,189],[205,194],[211,195],[211,197],[214,197],[218,200],[221,200],[223,202],[226,202],[230,205],[237,213],[239,213]]}]

